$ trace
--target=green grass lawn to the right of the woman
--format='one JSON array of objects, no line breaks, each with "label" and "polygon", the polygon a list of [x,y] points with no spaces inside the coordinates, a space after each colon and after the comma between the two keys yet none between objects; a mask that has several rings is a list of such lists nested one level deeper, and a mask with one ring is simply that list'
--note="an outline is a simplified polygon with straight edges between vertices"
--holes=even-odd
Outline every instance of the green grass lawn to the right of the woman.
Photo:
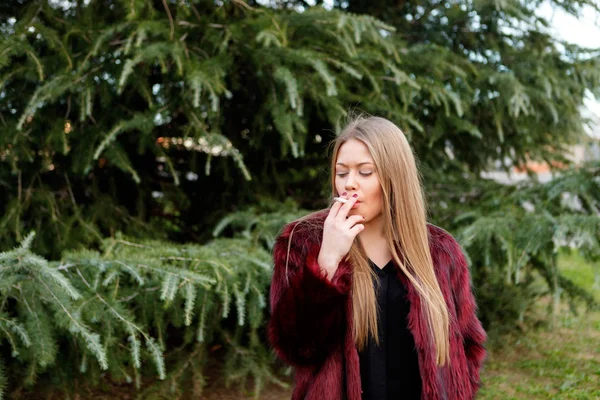
[{"label": "green grass lawn to the right of the woman", "polygon": [[[597,266],[576,253],[561,254],[559,265],[600,301]],[[573,315],[565,308],[554,329],[509,335],[489,351],[482,381],[478,399],[484,400],[600,399],[600,313]]]}]

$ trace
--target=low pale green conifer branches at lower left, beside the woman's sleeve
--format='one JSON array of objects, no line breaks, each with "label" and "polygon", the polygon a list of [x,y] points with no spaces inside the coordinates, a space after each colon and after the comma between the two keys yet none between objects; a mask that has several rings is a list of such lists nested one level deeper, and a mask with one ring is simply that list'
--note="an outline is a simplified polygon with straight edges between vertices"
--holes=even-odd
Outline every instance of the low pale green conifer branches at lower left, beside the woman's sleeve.
[{"label": "low pale green conifer branches at lower left, beside the woman's sleeve", "polygon": [[[260,390],[264,380],[277,381],[259,334],[271,274],[270,255],[260,246],[116,235],[103,242],[102,253],[79,250],[51,263],[30,251],[32,240],[30,234],[0,253],[0,341],[12,357],[9,371],[9,361],[0,359],[0,396],[9,380],[13,391],[50,384],[68,394],[73,381],[103,376],[141,389],[149,374],[165,383],[146,393],[176,387],[198,396],[215,345],[225,351],[228,382],[253,377]],[[62,378],[49,374],[56,369]],[[192,392],[189,380],[196,381]]]}]

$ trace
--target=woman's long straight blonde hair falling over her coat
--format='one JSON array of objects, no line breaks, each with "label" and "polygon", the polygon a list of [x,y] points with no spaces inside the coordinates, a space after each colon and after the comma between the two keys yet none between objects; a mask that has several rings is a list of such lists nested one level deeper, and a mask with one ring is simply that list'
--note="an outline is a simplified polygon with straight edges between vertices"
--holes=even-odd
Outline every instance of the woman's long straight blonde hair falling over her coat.
[{"label": "woman's long straight blonde hair falling over her coat", "polygon": [[[386,240],[395,264],[420,296],[437,352],[437,364],[445,365],[450,360],[448,308],[435,276],[429,251],[425,199],[412,149],[404,133],[391,121],[380,117],[355,118],[333,142],[333,196],[337,196],[335,164],[338,151],[350,139],[364,143],[373,157],[383,194],[382,217]],[[358,237],[354,240],[348,257],[354,267],[354,338],[357,348],[362,350],[369,336],[376,340],[379,337],[374,274]]]}]

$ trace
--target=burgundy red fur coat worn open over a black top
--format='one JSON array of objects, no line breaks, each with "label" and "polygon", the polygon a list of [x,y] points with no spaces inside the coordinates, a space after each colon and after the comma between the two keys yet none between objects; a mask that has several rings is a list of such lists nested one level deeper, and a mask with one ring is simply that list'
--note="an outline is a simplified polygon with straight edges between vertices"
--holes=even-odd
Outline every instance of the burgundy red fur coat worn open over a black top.
[{"label": "burgundy red fur coat worn open over a black top", "polygon": [[[285,362],[294,366],[292,400],[360,400],[358,352],[352,334],[349,296],[352,267],[340,263],[332,280],[317,264],[326,212],[315,224],[294,230],[286,274],[288,239],[296,223],[277,238],[273,257],[269,341]],[[429,225],[429,246],[435,272],[450,313],[450,364],[438,367],[420,298],[401,275],[410,300],[408,327],[419,357],[422,400],[469,400],[479,387],[486,334],[475,314],[469,270],[456,240]]]}]

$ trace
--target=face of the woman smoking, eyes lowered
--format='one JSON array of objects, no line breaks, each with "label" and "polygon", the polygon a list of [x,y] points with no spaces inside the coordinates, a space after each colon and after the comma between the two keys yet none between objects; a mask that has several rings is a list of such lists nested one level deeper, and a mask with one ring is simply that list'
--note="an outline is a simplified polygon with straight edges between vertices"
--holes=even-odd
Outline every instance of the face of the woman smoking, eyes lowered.
[{"label": "face of the woman smoking, eyes lowered", "polygon": [[335,190],[339,196],[358,195],[358,201],[350,215],[362,215],[365,223],[381,215],[383,194],[373,157],[367,146],[357,139],[350,139],[340,146],[335,164]]}]

